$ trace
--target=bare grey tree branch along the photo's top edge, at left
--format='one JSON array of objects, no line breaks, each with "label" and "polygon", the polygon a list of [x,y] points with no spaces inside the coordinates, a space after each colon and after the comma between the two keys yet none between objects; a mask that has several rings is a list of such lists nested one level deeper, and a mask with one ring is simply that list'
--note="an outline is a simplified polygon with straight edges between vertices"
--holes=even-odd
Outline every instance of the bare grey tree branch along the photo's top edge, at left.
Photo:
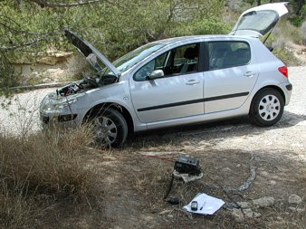
[{"label": "bare grey tree branch along the photo's top edge, at left", "polygon": [[78,2],[75,3],[51,3],[47,2],[44,0],[32,0],[33,3],[40,5],[42,8],[43,7],[49,7],[49,8],[63,8],[63,7],[75,7],[75,6],[80,6],[80,5],[90,5],[90,4],[95,4],[95,3],[100,3],[100,2],[106,2],[110,5],[114,5],[110,0],[87,0],[87,1],[82,1],[79,0]]}]

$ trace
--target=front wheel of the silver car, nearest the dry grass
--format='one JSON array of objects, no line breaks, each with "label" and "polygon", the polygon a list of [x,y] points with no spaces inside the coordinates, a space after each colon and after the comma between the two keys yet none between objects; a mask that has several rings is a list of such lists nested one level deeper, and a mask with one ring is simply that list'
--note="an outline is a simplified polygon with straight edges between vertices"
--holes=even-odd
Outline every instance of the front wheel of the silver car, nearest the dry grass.
[{"label": "front wheel of the silver car, nearest the dry grass", "polygon": [[102,148],[121,148],[128,136],[128,124],[118,110],[107,109],[91,119],[96,144]]}]

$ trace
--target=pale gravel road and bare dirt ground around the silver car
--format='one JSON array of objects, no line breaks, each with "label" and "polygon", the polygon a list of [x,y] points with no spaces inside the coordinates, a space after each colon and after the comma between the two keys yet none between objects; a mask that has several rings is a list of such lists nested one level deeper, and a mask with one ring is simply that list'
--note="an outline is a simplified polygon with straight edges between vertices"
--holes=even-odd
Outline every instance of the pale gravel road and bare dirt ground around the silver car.
[{"label": "pale gravel road and bare dirt ground around the silver car", "polygon": [[[95,152],[90,167],[105,174],[102,183],[108,190],[103,203],[103,225],[110,228],[245,228],[245,225],[248,228],[304,228],[306,67],[291,67],[289,74],[292,100],[285,107],[281,121],[273,127],[255,127],[248,119],[241,118],[142,133],[129,139],[126,148],[119,152]],[[0,131],[21,133],[30,127],[31,131],[39,129],[39,101],[49,91],[53,89],[14,96],[12,105],[7,110],[1,109]],[[180,206],[162,201],[173,164],[146,155],[175,160],[182,153],[200,160],[204,178],[193,184],[177,182],[171,196],[178,196],[185,205],[196,193],[205,192],[226,203],[244,202],[247,207],[222,209],[211,217],[190,216],[182,213]],[[252,171],[255,177],[250,186],[237,191]],[[232,191],[226,193],[226,190]],[[301,199],[292,202],[292,196]],[[270,204],[257,205],[254,200],[262,197]],[[88,220],[84,215],[78,217],[74,218],[76,227],[78,222]]]}]

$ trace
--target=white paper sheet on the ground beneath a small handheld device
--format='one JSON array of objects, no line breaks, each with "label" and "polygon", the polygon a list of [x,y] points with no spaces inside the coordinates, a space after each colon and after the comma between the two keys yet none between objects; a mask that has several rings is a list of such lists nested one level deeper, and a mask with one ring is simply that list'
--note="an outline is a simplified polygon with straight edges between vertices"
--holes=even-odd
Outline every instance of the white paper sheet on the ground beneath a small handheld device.
[{"label": "white paper sheet on the ground beneath a small handheld device", "polygon": [[[191,202],[197,202],[197,211],[191,210]],[[204,193],[196,195],[196,197],[188,205],[183,206],[183,209],[190,213],[201,215],[213,215],[220,209],[225,202],[222,199],[208,196]]]}]

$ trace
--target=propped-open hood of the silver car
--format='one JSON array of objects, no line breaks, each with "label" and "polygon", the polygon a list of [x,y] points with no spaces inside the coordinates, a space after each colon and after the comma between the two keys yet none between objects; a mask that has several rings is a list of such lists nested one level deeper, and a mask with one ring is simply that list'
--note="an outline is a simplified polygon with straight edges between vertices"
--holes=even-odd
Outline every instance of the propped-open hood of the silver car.
[{"label": "propped-open hood of the silver car", "polygon": [[102,69],[98,62],[94,60],[95,58],[98,58],[100,62],[103,62],[105,66],[108,67],[116,76],[120,76],[120,71],[101,52],[93,47],[91,43],[82,40],[79,35],[69,29],[64,29],[64,34],[67,39],[81,52],[86,60],[91,63],[91,66],[98,72],[100,72]]}]

